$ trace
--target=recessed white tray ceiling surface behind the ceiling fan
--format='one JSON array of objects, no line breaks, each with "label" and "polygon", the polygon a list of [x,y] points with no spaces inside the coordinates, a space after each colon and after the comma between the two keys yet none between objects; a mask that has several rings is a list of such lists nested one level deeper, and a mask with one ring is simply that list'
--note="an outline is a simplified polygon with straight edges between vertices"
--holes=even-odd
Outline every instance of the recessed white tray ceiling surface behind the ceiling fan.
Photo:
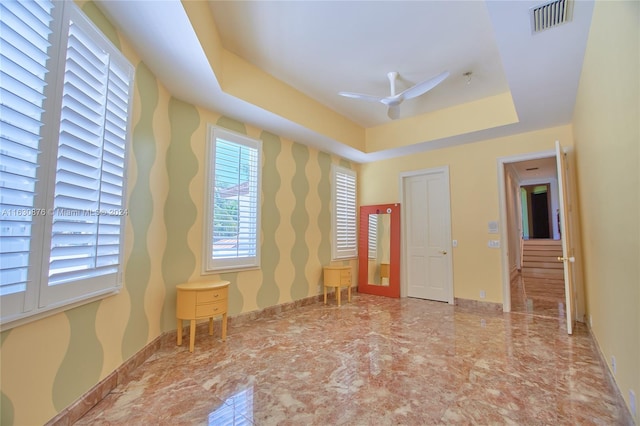
[{"label": "recessed white tray ceiling surface behind the ceiling fan", "polygon": [[398,91],[451,73],[428,95],[403,103],[401,117],[509,90],[480,1],[210,4],[226,49],[364,127],[389,121],[384,105],[337,93],[389,95],[390,71],[401,77]]}]

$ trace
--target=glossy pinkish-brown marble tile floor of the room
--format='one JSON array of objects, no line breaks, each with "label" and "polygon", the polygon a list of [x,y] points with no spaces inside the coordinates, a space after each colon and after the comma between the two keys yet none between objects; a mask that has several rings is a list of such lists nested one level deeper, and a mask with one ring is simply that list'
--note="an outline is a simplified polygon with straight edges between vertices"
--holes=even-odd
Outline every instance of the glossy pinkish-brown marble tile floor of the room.
[{"label": "glossy pinkish-brown marble tile floor of the room", "polygon": [[584,326],[358,294],[166,346],[78,425],[627,425]]}]

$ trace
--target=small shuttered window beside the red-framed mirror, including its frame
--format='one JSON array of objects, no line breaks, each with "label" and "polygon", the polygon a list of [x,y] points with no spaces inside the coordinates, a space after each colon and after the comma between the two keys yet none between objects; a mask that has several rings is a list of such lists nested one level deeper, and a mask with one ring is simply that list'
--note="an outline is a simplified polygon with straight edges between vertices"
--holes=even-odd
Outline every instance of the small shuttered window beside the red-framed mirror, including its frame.
[{"label": "small shuttered window beside the red-framed mirror, including its frame", "polygon": [[332,165],[333,241],[331,257],[347,259],[358,256],[356,214],[356,172]]}]

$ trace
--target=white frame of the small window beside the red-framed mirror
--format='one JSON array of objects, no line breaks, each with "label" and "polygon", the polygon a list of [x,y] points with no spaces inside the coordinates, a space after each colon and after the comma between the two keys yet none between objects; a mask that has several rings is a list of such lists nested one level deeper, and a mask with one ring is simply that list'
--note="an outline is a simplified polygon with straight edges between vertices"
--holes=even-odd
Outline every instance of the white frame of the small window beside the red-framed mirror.
[{"label": "white frame of the small window beside the red-framed mirror", "polygon": [[[343,175],[343,176],[341,176]],[[339,204],[341,202],[348,202],[348,200],[339,200],[340,179],[353,180],[353,203],[348,206],[351,218],[344,217],[339,212]],[[346,167],[339,166],[337,164],[331,165],[331,200],[333,208],[331,209],[331,259],[332,260],[347,260],[358,258],[358,175],[354,170]],[[346,214],[346,213],[345,213]],[[353,229],[347,230],[345,238],[349,240],[349,243],[340,247],[339,241],[342,238],[339,234],[339,228],[341,221],[352,221]]]}]

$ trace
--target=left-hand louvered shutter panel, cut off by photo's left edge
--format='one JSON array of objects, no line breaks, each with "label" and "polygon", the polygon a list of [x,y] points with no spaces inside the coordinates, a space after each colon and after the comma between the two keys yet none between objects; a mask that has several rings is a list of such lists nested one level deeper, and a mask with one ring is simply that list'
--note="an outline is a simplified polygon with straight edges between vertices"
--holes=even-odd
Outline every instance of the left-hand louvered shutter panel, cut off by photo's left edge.
[{"label": "left-hand louvered shutter panel, cut off by photo's left edge", "polygon": [[29,281],[52,2],[0,3],[0,297],[21,312]]}]

